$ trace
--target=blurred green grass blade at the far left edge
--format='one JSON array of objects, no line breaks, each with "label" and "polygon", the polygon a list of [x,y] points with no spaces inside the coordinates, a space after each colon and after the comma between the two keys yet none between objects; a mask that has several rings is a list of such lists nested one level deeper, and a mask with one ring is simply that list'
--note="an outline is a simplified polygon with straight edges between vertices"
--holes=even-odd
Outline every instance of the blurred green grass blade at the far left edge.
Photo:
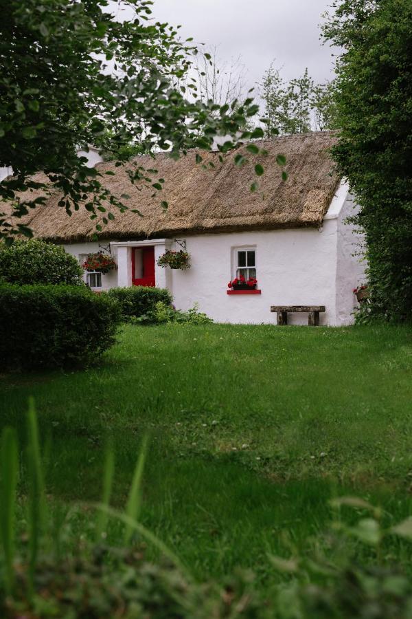
[{"label": "blurred green grass blade at the far left edge", "polygon": [[0,530],[5,562],[5,591],[11,594],[14,586],[14,539],[16,486],[19,472],[16,433],[4,428],[1,435]]}]

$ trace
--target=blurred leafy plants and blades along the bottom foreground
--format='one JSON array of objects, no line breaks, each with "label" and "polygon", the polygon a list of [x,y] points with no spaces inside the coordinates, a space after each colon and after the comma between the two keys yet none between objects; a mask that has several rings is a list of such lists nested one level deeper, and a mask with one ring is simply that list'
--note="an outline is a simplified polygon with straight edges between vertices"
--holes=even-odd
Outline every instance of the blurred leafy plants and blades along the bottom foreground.
[{"label": "blurred leafy plants and blades along the bottom foreground", "polygon": [[[280,583],[270,581],[262,592],[256,587],[253,574],[240,571],[225,576],[220,583],[197,583],[179,558],[139,522],[139,510],[135,508],[140,500],[145,448],[135,466],[124,510],[109,506],[107,485],[111,486],[114,456],[108,450],[111,457],[106,458],[103,502],[89,504],[87,510],[82,506],[87,524],[83,520],[80,532],[76,533],[71,523],[79,517],[80,508],[75,504],[65,508],[64,516],[52,524],[51,515],[56,506],[47,497],[43,484],[44,466],[33,402],[27,415],[27,461],[19,459],[13,428],[3,430],[1,446],[0,495],[2,510],[8,514],[7,526],[1,527],[0,535],[4,551],[0,555],[2,616],[34,619],[56,616],[67,619],[73,616],[409,619],[411,616],[411,577],[382,553],[389,539],[407,550],[412,541],[411,517],[388,525],[383,521],[385,512],[365,499],[340,497],[331,501],[332,527],[317,535],[316,552],[301,556],[292,550],[288,558],[268,554],[268,561],[281,575]],[[27,479],[27,515],[22,512],[16,495],[19,468]],[[33,501],[34,497],[37,502]],[[40,511],[40,505],[43,505],[42,528],[37,526],[35,513]],[[110,547],[89,539],[87,533],[94,528],[96,512],[98,526],[99,512],[107,512],[111,519],[127,525],[123,547]],[[19,547],[14,546],[16,539],[20,541]],[[22,539],[28,539],[28,551]],[[66,540],[64,550],[62,539]],[[161,551],[156,563],[145,561],[142,541],[152,543]],[[41,550],[33,561],[32,547]],[[369,554],[368,561],[365,552]],[[405,562],[408,556],[406,552]]]}]

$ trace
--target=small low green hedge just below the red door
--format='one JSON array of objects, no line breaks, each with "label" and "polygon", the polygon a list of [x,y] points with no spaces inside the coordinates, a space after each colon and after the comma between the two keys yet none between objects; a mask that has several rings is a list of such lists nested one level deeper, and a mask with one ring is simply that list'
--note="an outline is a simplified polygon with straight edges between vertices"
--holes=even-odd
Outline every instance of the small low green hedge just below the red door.
[{"label": "small low green hedge just below the red door", "polygon": [[155,312],[159,301],[165,305],[172,305],[173,301],[172,295],[165,288],[150,286],[112,288],[107,292],[107,296],[119,302],[123,318],[147,316]]}]

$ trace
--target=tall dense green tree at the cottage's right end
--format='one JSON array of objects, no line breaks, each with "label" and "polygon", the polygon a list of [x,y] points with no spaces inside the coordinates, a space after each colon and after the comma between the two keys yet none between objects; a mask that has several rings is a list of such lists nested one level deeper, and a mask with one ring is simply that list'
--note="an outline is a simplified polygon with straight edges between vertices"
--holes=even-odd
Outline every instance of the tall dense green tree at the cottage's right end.
[{"label": "tall dense green tree at the cottage's right end", "polygon": [[361,207],[370,316],[412,318],[412,4],[335,0],[325,39],[336,61],[333,150]]}]

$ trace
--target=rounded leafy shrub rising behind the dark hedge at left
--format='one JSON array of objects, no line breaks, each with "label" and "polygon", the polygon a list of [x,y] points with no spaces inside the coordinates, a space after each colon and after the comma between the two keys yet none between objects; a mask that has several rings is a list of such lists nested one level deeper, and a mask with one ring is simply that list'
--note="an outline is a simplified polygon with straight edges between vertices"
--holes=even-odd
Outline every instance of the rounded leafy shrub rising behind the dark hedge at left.
[{"label": "rounded leafy shrub rising behind the dark hedge at left", "polygon": [[80,264],[64,248],[38,239],[0,244],[0,280],[10,283],[83,285]]}]

